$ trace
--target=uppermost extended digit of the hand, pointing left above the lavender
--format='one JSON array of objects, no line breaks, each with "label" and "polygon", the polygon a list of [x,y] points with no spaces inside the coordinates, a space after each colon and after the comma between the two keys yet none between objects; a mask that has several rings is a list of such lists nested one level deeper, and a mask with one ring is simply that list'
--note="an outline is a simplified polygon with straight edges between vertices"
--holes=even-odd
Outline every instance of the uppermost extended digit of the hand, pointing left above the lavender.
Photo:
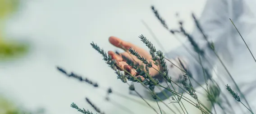
[{"label": "uppermost extended digit of the hand, pointing left above the lavender", "polygon": [[114,37],[114,36],[110,36],[109,41],[112,45],[119,47],[119,48],[124,48],[123,50],[128,50],[131,47],[135,47],[132,43],[123,41],[120,38]]}]

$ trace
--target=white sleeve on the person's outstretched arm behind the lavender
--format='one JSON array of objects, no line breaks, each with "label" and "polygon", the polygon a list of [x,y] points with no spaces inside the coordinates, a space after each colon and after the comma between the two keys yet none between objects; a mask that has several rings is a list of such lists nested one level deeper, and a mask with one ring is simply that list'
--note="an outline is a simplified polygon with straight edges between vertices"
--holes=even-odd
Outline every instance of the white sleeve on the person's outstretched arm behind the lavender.
[{"label": "white sleeve on the person's outstretched arm behind the lavender", "polygon": [[[233,0],[231,0],[233,1]],[[235,1],[236,4],[239,5],[238,2],[241,2],[240,0]],[[227,43],[228,37],[229,37],[229,29],[227,29],[227,26],[230,26],[230,20],[229,17],[232,15],[233,20],[238,18],[240,16],[240,11],[233,11],[229,9],[229,2],[228,0],[207,0],[205,8],[201,14],[201,18],[198,20],[202,30],[204,30],[204,33],[207,34],[207,37],[210,42],[214,42],[215,45],[215,51],[218,54],[227,54],[229,53],[229,49],[227,49],[225,43]],[[191,36],[194,38],[194,40],[197,42],[198,46],[204,50],[205,57],[201,58],[201,63],[203,64],[204,68],[206,68],[209,73],[211,74],[213,66],[216,61],[216,56],[214,55],[213,51],[208,47],[205,39],[203,38],[203,35],[201,34],[200,30],[195,27],[194,31],[192,32]],[[202,67],[200,63],[198,63],[199,58],[197,55],[197,52],[193,50],[193,46],[190,44],[190,42],[185,42],[184,46],[179,46],[178,48],[174,49],[173,51],[169,52],[166,57],[169,58],[174,63],[177,63],[178,66],[178,59],[180,58],[184,63],[184,65],[187,67],[187,69],[192,73],[192,76],[197,82],[200,84],[205,83],[204,75],[202,72]],[[188,49],[188,50],[187,50]],[[192,56],[193,55],[193,56]],[[169,76],[172,77],[174,81],[178,81],[179,76],[183,75],[183,72],[181,72],[176,67],[173,67],[173,65],[166,61],[168,69],[169,69]],[[167,84],[165,81],[160,83],[163,86],[167,87]],[[193,87],[197,87],[198,84],[196,84],[194,81],[192,81]],[[142,87],[139,83],[135,84],[135,89],[137,88],[137,91],[145,98],[151,99],[151,95],[147,89]],[[157,88],[155,88],[155,92],[157,95],[162,99],[167,99]],[[172,96],[172,93],[166,91],[168,94],[168,97]],[[130,94],[137,95],[134,92],[130,92]]]}]

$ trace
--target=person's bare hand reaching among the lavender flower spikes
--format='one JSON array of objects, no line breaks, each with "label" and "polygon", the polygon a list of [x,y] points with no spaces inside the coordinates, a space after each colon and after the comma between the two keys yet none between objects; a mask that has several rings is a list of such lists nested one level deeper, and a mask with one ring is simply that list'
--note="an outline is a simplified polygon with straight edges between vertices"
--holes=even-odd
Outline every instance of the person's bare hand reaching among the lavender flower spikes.
[{"label": "person's bare hand reaching among the lavender flower spikes", "polygon": [[[137,59],[136,56],[130,54],[130,52],[128,51],[129,48],[132,48],[135,51],[137,51],[138,54],[141,55],[142,57],[144,57],[145,59],[147,59],[148,62],[152,61],[152,59],[151,59],[152,57],[151,57],[151,55],[149,54],[148,51],[146,51],[146,50],[144,50],[144,49],[142,49],[138,46],[135,46],[132,43],[125,42],[122,39],[119,39],[119,38],[114,37],[114,36],[111,36],[109,38],[109,42],[112,45],[114,45],[116,47],[119,47],[119,48],[121,48],[125,51],[123,53],[120,53],[119,55],[116,54],[114,51],[108,51],[108,54],[112,57],[112,59],[114,59],[116,61],[117,65],[120,67],[120,68],[119,67],[118,68],[121,71],[123,71],[125,69],[126,71],[130,72],[133,76],[137,76],[137,73],[136,73],[135,69],[131,68],[131,66],[129,66],[126,63],[126,60],[124,58],[130,59],[134,63],[138,63],[140,65],[145,66],[145,64],[143,64],[139,59]],[[156,66],[154,63],[152,63],[152,66],[153,66],[153,68],[149,68],[149,73],[152,77],[157,76],[159,74],[159,72],[156,71],[154,68],[156,68],[158,70],[158,68],[160,68],[160,66]],[[142,80],[143,80],[143,78],[142,78]]]}]

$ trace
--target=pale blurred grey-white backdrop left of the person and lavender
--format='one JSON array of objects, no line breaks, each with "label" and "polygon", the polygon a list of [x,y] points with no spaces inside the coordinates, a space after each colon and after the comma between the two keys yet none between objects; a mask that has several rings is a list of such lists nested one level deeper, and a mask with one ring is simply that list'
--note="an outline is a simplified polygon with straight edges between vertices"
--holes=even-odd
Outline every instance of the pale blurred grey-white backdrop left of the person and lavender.
[{"label": "pale blurred grey-white backdrop left of the person and lavender", "polygon": [[[6,0],[0,0],[1,2]],[[12,0],[7,0],[12,1]],[[169,27],[177,28],[182,19],[187,31],[194,26],[191,13],[200,17],[206,0],[17,0],[14,12],[0,19],[0,41],[26,44],[26,54],[0,60],[0,94],[28,110],[44,108],[45,114],[80,114],[70,107],[72,102],[92,110],[85,97],[107,114],[125,114],[105,102],[106,92],[68,78],[56,70],[96,81],[104,88],[128,95],[128,86],[116,79],[90,45],[116,50],[108,42],[112,35],[146,49],[138,38],[143,34],[157,49],[160,46],[142,24],[150,26],[161,45],[170,51],[180,43],[169,34],[151,11],[158,9]],[[0,5],[0,10],[6,10]],[[179,18],[175,15],[179,14]],[[182,41],[185,38],[179,37]],[[131,96],[133,97],[133,96]],[[126,105],[137,105],[112,96]],[[93,111],[93,110],[92,110]]]}]

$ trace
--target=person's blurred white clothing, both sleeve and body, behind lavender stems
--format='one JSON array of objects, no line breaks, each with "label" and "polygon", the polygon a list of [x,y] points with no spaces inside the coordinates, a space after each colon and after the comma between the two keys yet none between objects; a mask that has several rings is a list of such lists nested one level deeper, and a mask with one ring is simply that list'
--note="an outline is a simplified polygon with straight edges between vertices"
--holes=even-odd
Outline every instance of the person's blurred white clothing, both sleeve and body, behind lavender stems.
[{"label": "person's blurred white clothing, both sleeve and body, behind lavender stems", "polygon": [[[256,112],[256,97],[254,97],[254,95],[256,95],[256,89],[254,89],[254,86],[256,86],[256,62],[247,50],[245,43],[242,41],[242,38],[229,18],[232,19],[237,26],[252,53],[256,56],[256,0],[207,0],[201,18],[199,18],[204,33],[208,36],[209,41],[214,42],[215,51],[227,66],[229,72],[249,102],[253,112]],[[201,32],[195,27],[191,35],[200,48],[205,51],[206,59],[210,62],[209,64],[206,62],[206,59],[202,59],[204,68],[207,68],[211,74],[214,74],[214,72],[212,72],[214,68],[213,66],[217,67],[216,70],[218,71],[218,76],[214,76],[213,79],[218,82],[221,88],[222,93],[220,94],[220,100],[223,101],[222,104],[226,113],[250,114],[241,103],[235,101],[226,89],[225,85],[229,84],[229,86],[240,96],[234,83],[229,78],[224,67],[220,64],[219,59],[215,56],[213,51],[208,48],[206,40],[203,38]],[[192,72],[193,77],[200,82],[200,84],[204,84],[205,80],[202,68],[197,62],[198,55],[193,51],[190,42],[187,41],[185,46],[190,49],[190,52],[192,52],[194,57],[192,57],[183,46],[169,52],[166,57],[174,62],[178,62],[177,59],[175,59],[177,57],[183,58],[183,60],[186,61],[184,64],[187,65],[188,70]],[[182,72],[175,67],[171,68],[171,63],[168,61],[166,61],[166,63],[168,63],[169,67],[169,76],[171,76],[173,80],[178,80],[177,77],[181,75]],[[165,82],[162,82],[161,84],[166,85]],[[192,85],[194,87],[198,86],[195,83],[192,83]],[[142,92],[141,94],[143,97],[151,99],[151,95],[145,88],[139,86],[139,84],[136,84],[136,89]],[[155,91],[157,92],[157,90]],[[171,96],[172,94],[168,93],[168,95]],[[232,104],[234,112],[229,112],[231,108],[225,103],[223,98],[224,95],[228,98],[230,104]],[[158,93],[158,96],[162,99],[166,99],[161,93]],[[242,99],[241,96],[240,98],[247,106],[244,99]],[[215,105],[215,108],[217,114],[224,114],[219,106]],[[214,111],[212,113],[214,113]]]}]

